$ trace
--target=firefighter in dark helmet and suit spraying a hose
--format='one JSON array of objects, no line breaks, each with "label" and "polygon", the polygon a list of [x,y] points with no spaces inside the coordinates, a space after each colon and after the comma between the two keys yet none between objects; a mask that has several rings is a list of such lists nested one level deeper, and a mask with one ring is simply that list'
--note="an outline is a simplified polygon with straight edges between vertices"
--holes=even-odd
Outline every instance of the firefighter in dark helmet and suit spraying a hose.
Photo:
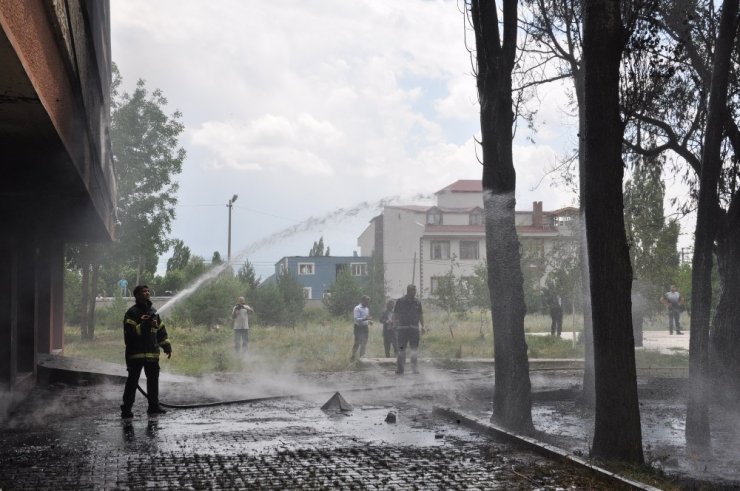
[{"label": "firefighter in dark helmet and suit spraying a hose", "polygon": [[167,329],[157,310],[149,300],[149,287],[138,285],[134,288],[136,303],[123,317],[123,340],[126,343],[126,370],[128,378],[123,390],[121,417],[132,418],[131,408],[136,399],[141,370],[146,374],[146,391],[149,400],[147,413],[164,414],[167,411],[159,405],[159,348],[172,357],[172,346],[167,339]]}]

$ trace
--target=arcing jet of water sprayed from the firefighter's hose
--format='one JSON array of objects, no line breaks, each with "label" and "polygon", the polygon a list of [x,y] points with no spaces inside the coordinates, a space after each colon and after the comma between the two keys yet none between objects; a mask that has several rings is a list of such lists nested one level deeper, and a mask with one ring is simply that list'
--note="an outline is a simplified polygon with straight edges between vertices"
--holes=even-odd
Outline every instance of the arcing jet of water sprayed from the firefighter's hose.
[{"label": "arcing jet of water sprayed from the firefighter's hose", "polygon": [[218,277],[218,275],[221,274],[226,268],[231,267],[234,264],[242,262],[246,256],[253,254],[254,252],[260,249],[277,244],[280,241],[293,237],[294,235],[300,234],[302,232],[308,232],[310,230],[313,230],[321,226],[341,223],[343,220],[353,218],[362,212],[366,212],[366,211],[380,212],[383,210],[383,207],[390,206],[392,204],[398,204],[401,201],[412,201],[413,202],[413,201],[420,201],[420,200],[428,200],[430,198],[431,197],[429,195],[425,195],[425,194],[417,194],[417,195],[410,196],[410,197],[409,196],[405,196],[405,197],[389,196],[389,197],[385,197],[385,198],[382,198],[374,202],[363,201],[362,203],[358,203],[357,205],[352,206],[351,208],[339,208],[337,210],[334,210],[320,217],[309,217],[300,223],[284,228],[283,230],[275,232],[272,235],[268,235],[267,237],[263,239],[253,242],[252,244],[250,244],[249,246],[247,246],[246,248],[242,249],[237,254],[232,256],[229,262],[222,263],[214,267],[213,269],[207,271],[206,273],[198,277],[187,288],[178,292],[177,295],[175,295],[170,300],[168,300],[164,305],[162,305],[162,307],[159,309],[159,313],[160,314],[167,313],[171,308],[177,305],[181,300],[188,298],[190,295],[195,293],[198,290],[198,288],[208,283],[209,281],[213,280],[214,278]]}]

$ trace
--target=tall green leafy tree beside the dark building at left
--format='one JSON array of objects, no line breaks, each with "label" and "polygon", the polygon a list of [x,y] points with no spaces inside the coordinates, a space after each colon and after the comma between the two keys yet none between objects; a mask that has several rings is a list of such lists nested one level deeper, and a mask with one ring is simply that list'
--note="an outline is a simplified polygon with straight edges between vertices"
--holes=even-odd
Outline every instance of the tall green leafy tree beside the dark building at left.
[{"label": "tall green leafy tree beside the dark building at left", "polygon": [[100,278],[112,284],[133,268],[130,283],[151,281],[159,255],[169,248],[178,184],[185,150],[179,136],[185,129],[175,111],[165,113],[161,90],[150,92],[139,80],[133,92],[121,91],[122,78],[113,65],[111,84],[111,149],[116,169],[118,225],[112,244],[79,244],[69,249],[70,263],[81,272],[80,327],[92,339],[95,295]]}]

